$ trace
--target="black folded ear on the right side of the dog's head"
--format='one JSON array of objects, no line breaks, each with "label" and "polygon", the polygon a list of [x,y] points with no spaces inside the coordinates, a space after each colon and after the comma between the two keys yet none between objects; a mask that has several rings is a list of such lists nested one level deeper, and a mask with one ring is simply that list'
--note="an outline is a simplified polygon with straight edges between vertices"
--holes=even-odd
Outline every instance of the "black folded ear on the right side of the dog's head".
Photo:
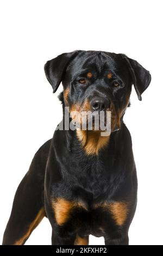
[{"label": "black folded ear on the right side of the dog's head", "polygon": [[136,60],[130,59],[127,56],[124,57],[127,61],[128,68],[132,77],[137,97],[142,100],[141,94],[147,89],[151,83],[151,74],[148,70],[143,68]]}]

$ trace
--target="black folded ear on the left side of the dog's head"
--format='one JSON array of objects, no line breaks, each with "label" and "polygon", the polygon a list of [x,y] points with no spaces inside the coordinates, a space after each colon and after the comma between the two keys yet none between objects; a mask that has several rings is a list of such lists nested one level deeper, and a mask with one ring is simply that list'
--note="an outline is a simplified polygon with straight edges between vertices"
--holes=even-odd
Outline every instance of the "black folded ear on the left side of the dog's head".
[{"label": "black folded ear on the left side of the dog's head", "polygon": [[53,93],[55,93],[62,81],[62,77],[66,71],[67,65],[70,61],[77,56],[79,51],[70,53],[62,53],[58,57],[48,60],[44,66],[47,80],[53,87]]}]

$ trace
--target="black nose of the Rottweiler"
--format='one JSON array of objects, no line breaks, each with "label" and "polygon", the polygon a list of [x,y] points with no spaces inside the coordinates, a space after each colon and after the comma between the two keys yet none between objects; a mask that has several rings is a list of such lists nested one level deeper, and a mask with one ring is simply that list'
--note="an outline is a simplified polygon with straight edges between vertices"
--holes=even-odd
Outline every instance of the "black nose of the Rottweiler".
[{"label": "black nose of the Rottweiler", "polygon": [[105,111],[110,107],[110,101],[104,97],[93,97],[90,101],[90,106],[93,111]]}]

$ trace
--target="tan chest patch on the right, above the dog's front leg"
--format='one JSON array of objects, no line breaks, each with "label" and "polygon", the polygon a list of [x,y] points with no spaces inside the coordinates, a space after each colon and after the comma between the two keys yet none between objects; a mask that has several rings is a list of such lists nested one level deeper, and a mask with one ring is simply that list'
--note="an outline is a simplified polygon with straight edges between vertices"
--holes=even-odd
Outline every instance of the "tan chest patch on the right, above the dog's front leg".
[{"label": "tan chest patch on the right, above the dog's front leg", "polygon": [[128,215],[128,202],[104,202],[94,205],[94,209],[102,207],[111,212],[117,225],[123,225]]}]

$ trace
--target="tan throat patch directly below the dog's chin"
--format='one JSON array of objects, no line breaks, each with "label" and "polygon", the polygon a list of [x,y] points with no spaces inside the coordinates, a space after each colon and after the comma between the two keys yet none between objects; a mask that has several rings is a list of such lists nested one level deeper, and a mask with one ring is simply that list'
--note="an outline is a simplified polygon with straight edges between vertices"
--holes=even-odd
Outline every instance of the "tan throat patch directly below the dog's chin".
[{"label": "tan throat patch directly below the dog's chin", "polygon": [[77,130],[77,137],[87,155],[98,155],[99,150],[109,143],[110,136],[101,136],[101,131]]}]

